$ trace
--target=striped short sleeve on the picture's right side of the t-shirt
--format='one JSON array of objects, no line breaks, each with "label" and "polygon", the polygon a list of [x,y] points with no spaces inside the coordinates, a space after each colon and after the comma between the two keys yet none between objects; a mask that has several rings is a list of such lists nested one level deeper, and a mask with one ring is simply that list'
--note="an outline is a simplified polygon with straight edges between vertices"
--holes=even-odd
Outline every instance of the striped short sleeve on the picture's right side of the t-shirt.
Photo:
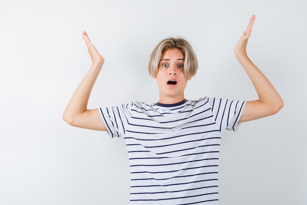
[{"label": "striped short sleeve on the picture's right side of the t-shirt", "polygon": [[223,98],[209,98],[215,122],[221,132],[228,130],[237,131],[246,101],[234,101]]}]

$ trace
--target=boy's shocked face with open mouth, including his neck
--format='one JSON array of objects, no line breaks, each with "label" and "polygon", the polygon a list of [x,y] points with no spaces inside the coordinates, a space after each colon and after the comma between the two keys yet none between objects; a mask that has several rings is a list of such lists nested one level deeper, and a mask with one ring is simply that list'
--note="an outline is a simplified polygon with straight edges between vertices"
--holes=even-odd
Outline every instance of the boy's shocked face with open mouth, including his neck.
[{"label": "boy's shocked face with open mouth, including his neck", "polygon": [[184,99],[187,79],[184,74],[184,56],[177,49],[168,49],[162,55],[156,76],[160,103],[173,104]]}]

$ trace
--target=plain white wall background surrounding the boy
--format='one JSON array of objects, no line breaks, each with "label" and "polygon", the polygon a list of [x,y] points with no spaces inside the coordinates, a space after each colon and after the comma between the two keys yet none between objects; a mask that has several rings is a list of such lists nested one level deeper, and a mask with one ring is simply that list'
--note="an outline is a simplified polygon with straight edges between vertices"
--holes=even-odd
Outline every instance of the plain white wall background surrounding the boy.
[{"label": "plain white wall background surrounding the boy", "polygon": [[304,0],[1,0],[0,205],[129,203],[123,139],[62,120],[91,65],[83,29],[105,58],[89,108],[156,102],[147,63],[168,36],[199,59],[187,99],[253,100],[233,54],[252,14],[248,55],[285,105],[223,136],[220,205],[306,205],[305,11]]}]

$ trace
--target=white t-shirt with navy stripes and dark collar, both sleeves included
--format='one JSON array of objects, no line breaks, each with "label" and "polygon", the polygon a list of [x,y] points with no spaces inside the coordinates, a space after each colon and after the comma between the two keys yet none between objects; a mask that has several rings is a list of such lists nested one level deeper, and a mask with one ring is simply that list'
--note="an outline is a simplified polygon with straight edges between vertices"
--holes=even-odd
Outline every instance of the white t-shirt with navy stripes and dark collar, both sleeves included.
[{"label": "white t-shirt with navy stripes and dark collar, both sleeves included", "polygon": [[221,137],[237,130],[245,101],[134,102],[100,108],[111,137],[123,137],[130,205],[217,205]]}]

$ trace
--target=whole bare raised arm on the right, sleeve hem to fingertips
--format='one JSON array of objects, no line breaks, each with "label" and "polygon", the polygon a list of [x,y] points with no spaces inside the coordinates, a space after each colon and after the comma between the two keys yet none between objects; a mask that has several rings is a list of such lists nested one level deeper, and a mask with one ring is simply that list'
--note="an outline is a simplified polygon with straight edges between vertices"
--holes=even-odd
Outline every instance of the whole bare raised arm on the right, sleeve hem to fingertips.
[{"label": "whole bare raised arm on the right, sleeve hem to fingertips", "polygon": [[246,46],[251,36],[254,22],[255,15],[252,16],[247,29],[243,32],[234,49],[236,58],[250,77],[259,98],[258,100],[246,102],[239,120],[240,122],[274,115],[283,107],[283,101],[279,93],[256,65],[247,57]]}]

